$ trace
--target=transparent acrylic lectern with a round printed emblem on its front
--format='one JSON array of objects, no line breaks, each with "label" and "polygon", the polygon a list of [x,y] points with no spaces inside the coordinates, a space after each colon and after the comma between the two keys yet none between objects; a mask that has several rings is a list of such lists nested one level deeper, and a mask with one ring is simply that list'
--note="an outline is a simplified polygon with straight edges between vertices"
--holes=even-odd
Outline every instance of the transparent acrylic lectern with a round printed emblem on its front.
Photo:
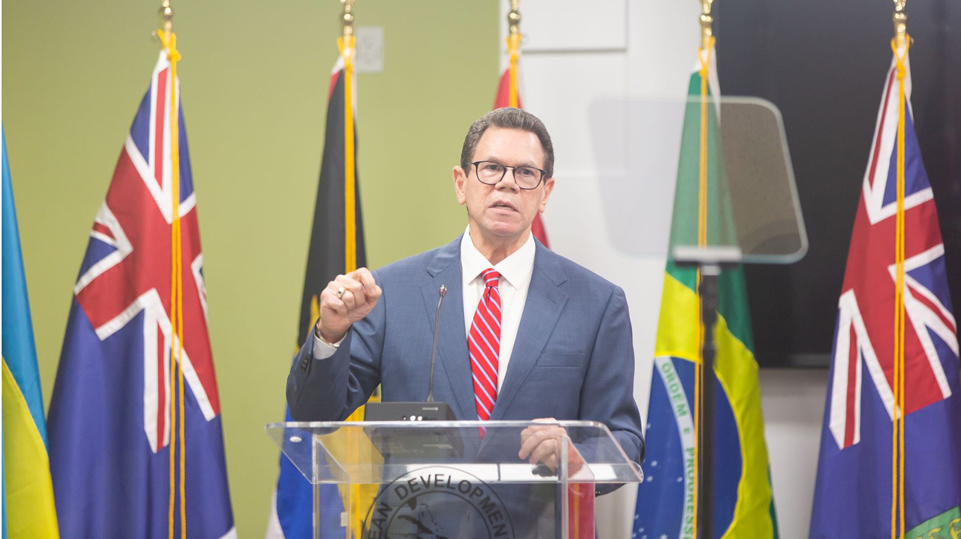
[{"label": "transparent acrylic lectern with a round printed emblem on its front", "polygon": [[[642,478],[596,422],[275,423],[266,430],[313,484],[314,537],[321,537],[325,483],[367,500],[344,503],[343,522],[355,523],[341,531],[348,539],[586,539],[594,537],[595,491]],[[520,458],[528,440],[543,440],[554,456],[534,464]]]}]

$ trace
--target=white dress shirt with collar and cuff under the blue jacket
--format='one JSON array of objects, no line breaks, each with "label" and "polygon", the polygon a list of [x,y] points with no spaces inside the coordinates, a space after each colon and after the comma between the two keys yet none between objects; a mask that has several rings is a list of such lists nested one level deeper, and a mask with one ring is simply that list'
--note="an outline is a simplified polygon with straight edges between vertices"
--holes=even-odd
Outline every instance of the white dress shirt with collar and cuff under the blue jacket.
[{"label": "white dress shirt with collar and cuff under the blue jacket", "polygon": [[[480,303],[480,296],[483,294],[484,284],[480,274],[487,268],[494,268],[501,274],[498,282],[498,291],[501,293],[501,353],[497,364],[497,391],[501,391],[504,385],[504,376],[507,373],[507,363],[510,361],[510,353],[514,348],[514,341],[517,339],[517,329],[521,325],[521,315],[524,314],[524,304],[528,301],[528,289],[530,288],[530,276],[534,271],[534,245],[533,234],[528,236],[528,240],[520,249],[514,251],[510,256],[501,260],[498,264],[491,264],[486,257],[480,254],[478,248],[471,240],[471,228],[467,226],[463,237],[460,239],[460,274],[461,289],[463,290],[464,302],[464,340],[471,331],[471,324],[474,322],[474,312]],[[341,340],[341,342],[343,342]],[[340,343],[337,343],[339,345]],[[313,337],[313,356],[316,359],[326,359],[336,352],[336,348],[317,337],[316,331]]]}]

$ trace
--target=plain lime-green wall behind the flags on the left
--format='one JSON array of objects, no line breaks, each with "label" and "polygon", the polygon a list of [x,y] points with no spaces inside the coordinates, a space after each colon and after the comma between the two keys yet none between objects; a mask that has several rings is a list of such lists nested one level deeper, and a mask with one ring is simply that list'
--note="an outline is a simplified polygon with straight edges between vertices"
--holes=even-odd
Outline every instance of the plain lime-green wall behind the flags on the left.
[{"label": "plain lime-green wall behind the flags on the left", "polygon": [[[157,61],[158,4],[3,7],[3,124],[47,405],[90,226]],[[241,537],[259,537],[278,457],[263,426],[283,414],[340,5],[173,7],[234,519]],[[465,226],[451,167],[493,103],[498,4],[358,0],[355,12],[384,27],[384,70],[357,83],[376,267]]]}]

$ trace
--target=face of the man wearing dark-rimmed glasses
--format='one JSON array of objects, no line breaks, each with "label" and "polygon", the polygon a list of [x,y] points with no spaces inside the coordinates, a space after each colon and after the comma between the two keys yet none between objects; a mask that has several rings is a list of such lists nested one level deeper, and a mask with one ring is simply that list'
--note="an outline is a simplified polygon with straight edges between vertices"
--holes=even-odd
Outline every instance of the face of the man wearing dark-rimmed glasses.
[{"label": "face of the man wearing dark-rimmed glasses", "polygon": [[[518,129],[491,126],[480,135],[472,161],[496,161],[508,167],[544,168],[544,148],[537,135]],[[530,231],[538,211],[544,211],[554,189],[554,178],[545,178],[533,189],[521,189],[508,168],[498,184],[482,184],[477,167],[454,167],[457,203],[467,206],[472,230],[487,237],[520,238]]]}]

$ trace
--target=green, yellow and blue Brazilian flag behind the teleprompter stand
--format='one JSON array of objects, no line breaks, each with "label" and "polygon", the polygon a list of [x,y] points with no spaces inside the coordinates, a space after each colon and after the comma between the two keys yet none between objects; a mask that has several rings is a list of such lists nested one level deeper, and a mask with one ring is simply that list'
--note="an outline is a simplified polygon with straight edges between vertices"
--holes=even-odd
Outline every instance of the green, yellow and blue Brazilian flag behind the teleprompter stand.
[{"label": "green, yellow and blue Brazilian flag behind the teleprompter stand", "polygon": [[[703,54],[703,53],[702,53]],[[705,95],[718,96],[716,58],[707,53]],[[702,95],[701,61],[691,76],[688,95]],[[711,98],[713,99],[713,98]],[[700,105],[687,105],[681,135],[675,193],[672,244],[693,238],[699,222],[701,151]],[[707,109],[708,163],[718,162],[716,107]],[[723,121],[723,118],[720,119]],[[707,167],[708,193],[723,196],[720,167]],[[709,235],[723,234],[720,201],[708,203]],[[700,361],[700,303],[697,270],[668,261],[654,345],[651,400],[645,432],[644,482],[638,487],[635,539],[693,538],[696,517],[695,365]],[[718,279],[718,323],[714,377],[714,522],[717,537],[776,536],[776,520],[768,474],[768,452],[753,354],[751,318],[740,267],[725,269]]]}]

